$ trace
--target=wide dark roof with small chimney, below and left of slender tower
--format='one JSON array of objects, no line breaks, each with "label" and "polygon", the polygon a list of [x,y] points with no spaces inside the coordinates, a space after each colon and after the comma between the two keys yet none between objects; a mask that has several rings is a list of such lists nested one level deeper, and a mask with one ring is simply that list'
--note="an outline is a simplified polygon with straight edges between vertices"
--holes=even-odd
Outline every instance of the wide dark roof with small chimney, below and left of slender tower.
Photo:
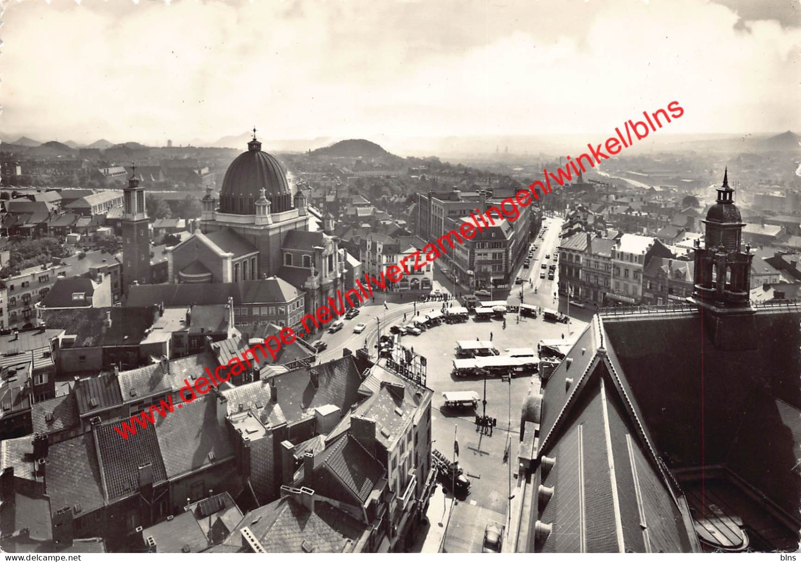
[{"label": "wide dark roof with small chimney, below and left of slender tower", "polygon": [[[111,327],[105,322],[106,311],[111,311]],[[75,335],[73,347],[139,345],[153,317],[152,307],[78,308],[49,312],[46,325]]]}]

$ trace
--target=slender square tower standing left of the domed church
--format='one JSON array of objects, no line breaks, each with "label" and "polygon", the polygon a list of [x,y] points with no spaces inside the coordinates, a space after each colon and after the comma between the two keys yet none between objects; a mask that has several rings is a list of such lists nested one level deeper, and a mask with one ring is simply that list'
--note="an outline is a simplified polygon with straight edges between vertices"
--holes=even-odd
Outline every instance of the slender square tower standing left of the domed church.
[{"label": "slender square tower standing left of the domed church", "polygon": [[150,219],[145,209],[145,188],[136,167],[123,190],[123,279],[125,287],[151,283]]}]

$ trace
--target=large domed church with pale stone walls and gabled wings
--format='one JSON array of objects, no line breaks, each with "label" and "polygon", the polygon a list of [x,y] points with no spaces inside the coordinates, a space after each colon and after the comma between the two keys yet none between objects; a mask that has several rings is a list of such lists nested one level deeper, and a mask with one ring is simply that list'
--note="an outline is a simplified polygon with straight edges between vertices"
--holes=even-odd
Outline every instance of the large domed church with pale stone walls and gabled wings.
[{"label": "large domed church with pale stone walls and gabled wings", "polygon": [[228,167],[219,200],[203,197],[195,233],[168,248],[171,283],[238,283],[277,276],[306,293],[315,311],[345,288],[347,252],[312,231],[306,197],[292,195],[278,160],[261,150],[256,130],[248,151]]}]

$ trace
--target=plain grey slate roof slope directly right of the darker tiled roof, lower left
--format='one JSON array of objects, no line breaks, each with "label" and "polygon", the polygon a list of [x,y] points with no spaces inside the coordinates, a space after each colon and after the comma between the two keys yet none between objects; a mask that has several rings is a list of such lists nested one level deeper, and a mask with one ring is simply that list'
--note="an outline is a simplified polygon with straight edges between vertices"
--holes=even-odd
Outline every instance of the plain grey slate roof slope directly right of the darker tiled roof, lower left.
[{"label": "plain grey slate roof slope directly right of the darker tiled roof, lower left", "polygon": [[[227,428],[217,421],[214,395],[199,396],[182,406],[181,411],[159,418],[155,428],[167,478],[223,462],[233,455]],[[214,460],[209,458],[212,452]]]}]

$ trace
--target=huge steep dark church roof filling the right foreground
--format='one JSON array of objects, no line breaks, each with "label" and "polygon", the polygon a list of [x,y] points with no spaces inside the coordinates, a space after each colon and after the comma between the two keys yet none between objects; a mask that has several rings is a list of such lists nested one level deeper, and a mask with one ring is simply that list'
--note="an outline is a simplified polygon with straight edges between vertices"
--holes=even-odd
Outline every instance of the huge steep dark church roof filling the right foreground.
[{"label": "huge steep dark church roof filling the right foreground", "polygon": [[[531,524],[553,524],[541,549],[638,551],[645,541],[651,551],[697,548],[668,475],[681,468],[723,467],[785,514],[797,513],[799,320],[799,307],[596,316],[544,388],[539,453],[556,463],[542,483],[555,492],[541,515],[533,496]],[[718,340],[716,321],[725,328]],[[614,490],[619,507],[610,510]],[[738,506],[727,509],[736,515]]]}]

